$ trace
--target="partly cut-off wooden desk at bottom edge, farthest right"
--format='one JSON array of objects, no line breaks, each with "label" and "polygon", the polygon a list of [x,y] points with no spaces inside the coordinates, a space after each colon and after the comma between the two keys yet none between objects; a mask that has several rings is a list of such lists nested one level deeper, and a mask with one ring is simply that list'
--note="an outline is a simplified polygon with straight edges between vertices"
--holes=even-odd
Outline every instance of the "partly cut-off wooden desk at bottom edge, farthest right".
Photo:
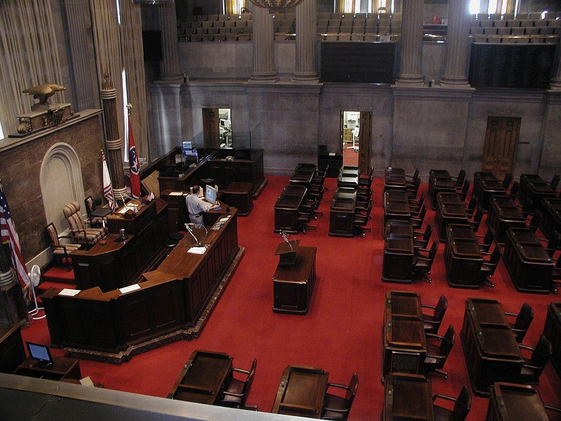
[{"label": "partly cut-off wooden desk at bottom edge, farthest right", "polygon": [[549,420],[539,393],[532,386],[494,383],[485,421]]}]

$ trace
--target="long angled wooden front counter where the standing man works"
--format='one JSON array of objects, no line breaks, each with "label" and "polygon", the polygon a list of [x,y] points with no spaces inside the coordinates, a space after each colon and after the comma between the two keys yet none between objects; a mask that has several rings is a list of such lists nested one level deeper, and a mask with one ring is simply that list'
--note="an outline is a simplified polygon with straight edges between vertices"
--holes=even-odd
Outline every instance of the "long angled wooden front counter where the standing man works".
[{"label": "long angled wooden front counter where the standing man works", "polygon": [[208,229],[205,253],[189,253],[195,241],[184,236],[156,270],[144,273],[145,280],[132,286],[137,289],[103,293],[95,287],[69,296],[50,288],[43,293],[53,345],[123,351],[118,358],[126,360],[130,354],[125,351],[131,352],[134,345],[193,328],[224,273],[241,255],[236,211],[214,217],[215,225],[228,218],[218,229]]}]

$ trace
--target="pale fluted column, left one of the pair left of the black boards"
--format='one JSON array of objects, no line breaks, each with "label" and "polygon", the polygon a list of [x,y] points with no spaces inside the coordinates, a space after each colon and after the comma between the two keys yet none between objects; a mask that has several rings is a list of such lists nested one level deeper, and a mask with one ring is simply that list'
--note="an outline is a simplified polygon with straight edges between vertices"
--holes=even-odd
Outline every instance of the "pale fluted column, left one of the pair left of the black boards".
[{"label": "pale fluted column, left one of the pair left of the black boards", "polygon": [[253,72],[250,81],[278,80],[273,55],[273,16],[266,8],[253,8]]}]

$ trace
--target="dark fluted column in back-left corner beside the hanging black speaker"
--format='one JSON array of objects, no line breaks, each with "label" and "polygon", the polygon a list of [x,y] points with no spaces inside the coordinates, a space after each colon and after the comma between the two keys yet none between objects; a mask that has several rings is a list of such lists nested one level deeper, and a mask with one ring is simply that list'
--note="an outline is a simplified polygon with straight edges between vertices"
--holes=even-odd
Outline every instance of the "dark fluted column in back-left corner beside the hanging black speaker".
[{"label": "dark fluted column in back-left corner beside the hanging black speaker", "polygon": [[162,61],[158,80],[182,83],[175,4],[161,4],[157,7],[158,25],[162,32]]}]

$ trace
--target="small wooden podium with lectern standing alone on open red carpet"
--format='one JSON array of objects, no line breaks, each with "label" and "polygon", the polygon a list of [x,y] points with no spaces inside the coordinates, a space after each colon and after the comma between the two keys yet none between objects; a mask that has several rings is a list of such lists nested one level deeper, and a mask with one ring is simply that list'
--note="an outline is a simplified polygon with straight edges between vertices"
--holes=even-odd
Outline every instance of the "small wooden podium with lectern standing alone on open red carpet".
[{"label": "small wooden podium with lectern standing alone on open red carpet", "polygon": [[316,282],[316,247],[299,240],[278,244],[278,266],[273,275],[273,312],[306,314]]}]

